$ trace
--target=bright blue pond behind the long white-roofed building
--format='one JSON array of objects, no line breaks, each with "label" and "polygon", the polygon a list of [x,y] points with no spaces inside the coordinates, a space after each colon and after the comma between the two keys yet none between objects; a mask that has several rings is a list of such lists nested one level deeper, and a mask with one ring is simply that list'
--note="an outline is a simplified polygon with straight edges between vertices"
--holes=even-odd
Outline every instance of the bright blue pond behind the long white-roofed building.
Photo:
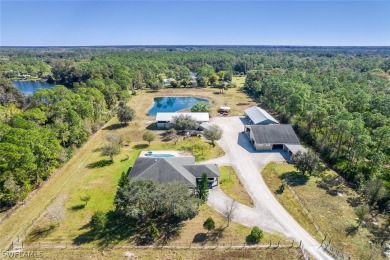
[{"label": "bright blue pond behind the long white-roofed building", "polygon": [[193,107],[196,103],[209,101],[194,97],[159,97],[154,99],[154,105],[149,110],[149,116],[156,116],[157,112],[177,112]]}]

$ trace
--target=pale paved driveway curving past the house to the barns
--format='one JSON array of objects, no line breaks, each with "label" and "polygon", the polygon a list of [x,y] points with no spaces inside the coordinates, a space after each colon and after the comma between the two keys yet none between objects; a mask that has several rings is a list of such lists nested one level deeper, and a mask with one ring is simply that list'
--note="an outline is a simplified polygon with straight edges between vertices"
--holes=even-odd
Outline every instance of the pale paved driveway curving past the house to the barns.
[{"label": "pale paved driveway curving past the house to the barns", "polygon": [[[234,220],[248,226],[259,226],[266,231],[280,232],[295,241],[302,240],[305,248],[317,259],[332,259],[322,249],[319,249],[320,244],[279,204],[261,177],[262,167],[271,161],[284,161],[288,156],[287,153],[255,151],[248,137],[241,133],[244,130],[242,120],[240,117],[212,119],[211,124],[219,125],[224,131],[219,144],[226,154],[221,158],[205,162],[232,165],[252,197],[255,208],[239,205]],[[210,192],[208,204],[222,211],[226,199],[226,195],[222,192],[213,190]]]}]

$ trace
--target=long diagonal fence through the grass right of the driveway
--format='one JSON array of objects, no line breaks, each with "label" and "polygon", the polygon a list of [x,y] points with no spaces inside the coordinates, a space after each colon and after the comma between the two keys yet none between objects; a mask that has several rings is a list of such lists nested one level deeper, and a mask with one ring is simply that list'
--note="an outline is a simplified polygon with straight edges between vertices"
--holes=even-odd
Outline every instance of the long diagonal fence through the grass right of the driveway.
[{"label": "long diagonal fence through the grass right of the driveway", "polygon": [[[327,241],[326,240],[326,237],[327,235],[324,235],[320,229],[320,227],[317,225],[317,223],[314,221],[314,218],[313,216],[310,214],[309,210],[306,208],[306,206],[304,205],[303,201],[301,200],[301,198],[298,196],[298,194],[290,187],[290,183],[293,183],[293,181],[289,181],[288,179],[286,179],[286,184],[287,184],[287,187],[289,188],[289,190],[292,192],[292,194],[294,194],[294,197],[297,199],[299,205],[301,206],[303,212],[305,212],[306,216],[308,217],[308,219],[310,220],[310,222],[313,224],[314,228],[316,229],[316,231],[318,232],[318,234],[320,234],[320,236],[323,238],[322,242],[321,242],[321,247],[324,248],[325,252],[328,253],[330,256],[334,257],[335,259],[337,260],[347,260],[347,259],[350,259],[349,255],[340,251],[340,250],[337,250],[335,247],[333,247],[331,244],[330,244],[330,240]],[[304,251],[305,249],[303,248],[302,249],[302,253],[304,254]],[[306,259],[306,258],[305,258]]]}]

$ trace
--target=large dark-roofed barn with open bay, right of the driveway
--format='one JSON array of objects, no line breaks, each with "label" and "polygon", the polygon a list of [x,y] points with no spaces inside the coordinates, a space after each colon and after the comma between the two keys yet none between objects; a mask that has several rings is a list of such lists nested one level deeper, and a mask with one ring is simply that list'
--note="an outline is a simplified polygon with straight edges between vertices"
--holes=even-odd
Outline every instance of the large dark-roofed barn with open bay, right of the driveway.
[{"label": "large dark-roofed barn with open bay, right of the driveway", "polygon": [[306,152],[291,125],[247,125],[245,132],[256,150],[283,149],[290,155]]}]

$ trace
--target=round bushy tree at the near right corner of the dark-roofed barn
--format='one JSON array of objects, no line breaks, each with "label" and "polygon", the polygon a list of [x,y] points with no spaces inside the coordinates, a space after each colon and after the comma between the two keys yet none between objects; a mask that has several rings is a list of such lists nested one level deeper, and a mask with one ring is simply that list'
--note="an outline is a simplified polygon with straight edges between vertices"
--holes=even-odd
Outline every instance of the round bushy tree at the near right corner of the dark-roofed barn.
[{"label": "round bushy tree at the near right corner of the dark-roofed barn", "polygon": [[320,159],[312,151],[309,152],[298,151],[296,154],[294,154],[291,157],[291,163],[294,164],[294,166],[300,172],[302,172],[302,174],[308,172],[309,175],[312,175],[318,170],[320,166]]}]

